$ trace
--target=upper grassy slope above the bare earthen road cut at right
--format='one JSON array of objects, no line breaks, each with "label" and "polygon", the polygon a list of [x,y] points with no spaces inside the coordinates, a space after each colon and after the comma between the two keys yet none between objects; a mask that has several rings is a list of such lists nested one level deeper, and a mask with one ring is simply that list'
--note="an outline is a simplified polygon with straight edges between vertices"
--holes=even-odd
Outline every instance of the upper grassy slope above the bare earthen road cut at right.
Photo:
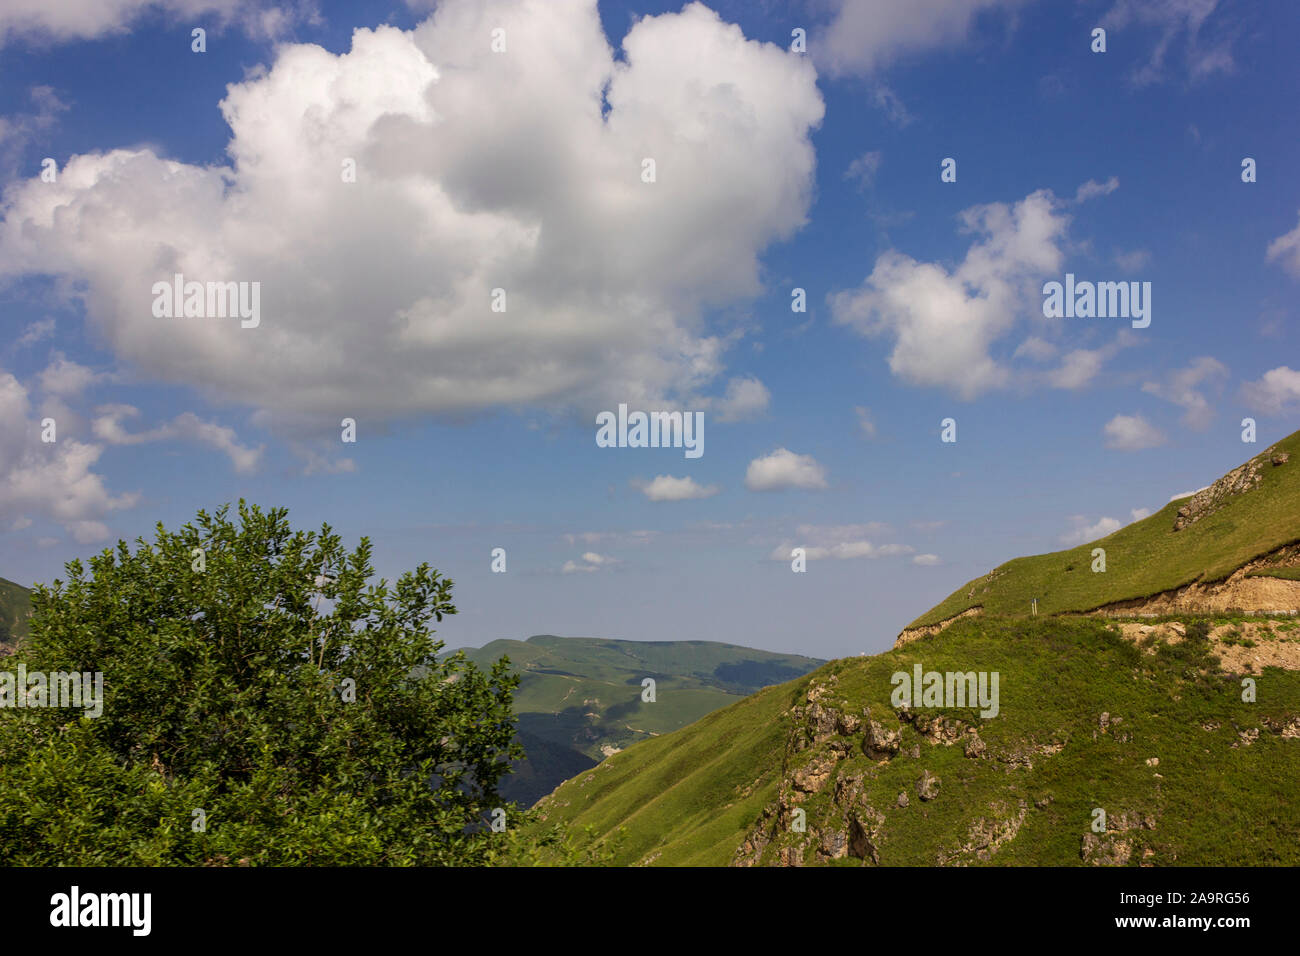
[{"label": "upper grassy slope above the bare earthen road cut at right", "polygon": [[[989,614],[1024,614],[1035,597],[1041,614],[1088,611],[1196,580],[1222,580],[1252,558],[1300,541],[1300,432],[1277,447],[1291,453],[1291,463],[1279,468],[1265,463],[1257,488],[1182,531],[1174,531],[1174,515],[1186,501],[1174,501],[1098,541],[1009,561],[988,576],[992,580],[966,583],[909,627],[974,606]],[[1104,574],[1091,570],[1093,548],[1106,551]]]}]

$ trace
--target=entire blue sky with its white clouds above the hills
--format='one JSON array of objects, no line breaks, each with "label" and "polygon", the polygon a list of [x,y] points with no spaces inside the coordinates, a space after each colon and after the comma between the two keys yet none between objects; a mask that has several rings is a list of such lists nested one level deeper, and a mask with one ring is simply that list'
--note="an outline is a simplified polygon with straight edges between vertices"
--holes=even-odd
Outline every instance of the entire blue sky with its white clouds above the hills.
[{"label": "entire blue sky with its white clouds above the hills", "polygon": [[[1223,0],[0,13],[0,575],[246,497],[445,571],[451,645],[881,650],[1295,431],[1297,27]],[[260,282],[260,324],[152,315],[177,269]],[[1150,282],[1150,325],[1045,319],[1067,272]],[[597,447],[619,403],[701,411],[705,454]]]}]

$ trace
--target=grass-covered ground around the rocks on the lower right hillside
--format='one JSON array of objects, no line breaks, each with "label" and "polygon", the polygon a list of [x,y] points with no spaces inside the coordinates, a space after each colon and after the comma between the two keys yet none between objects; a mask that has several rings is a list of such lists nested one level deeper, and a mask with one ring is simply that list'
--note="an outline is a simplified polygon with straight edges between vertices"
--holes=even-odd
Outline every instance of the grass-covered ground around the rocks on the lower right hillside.
[{"label": "grass-covered ground around the rocks on the lower right hillside", "polygon": [[[776,799],[783,760],[789,771],[828,753],[823,744],[786,758],[785,741],[796,721],[792,705],[812,680],[826,683],[835,674],[824,702],[854,714],[868,708],[887,728],[901,726],[904,750],[884,763],[870,760],[858,732],[832,780],[801,804],[809,834],[779,835],[764,862],[776,845],[801,840],[805,861],[815,862],[816,834],[844,826],[844,808],[832,801],[835,778],[864,774],[863,799],[885,814],[884,865],[933,865],[979,819],[1004,819],[1020,800],[1026,819],[994,862],[1079,864],[1092,809],[1100,806],[1112,817],[1154,814],[1154,830],[1124,835],[1136,844],[1134,862],[1149,848],[1154,865],[1300,864],[1300,803],[1294,800],[1300,739],[1280,737],[1264,724],[1265,717],[1284,723],[1300,714],[1300,674],[1266,670],[1257,678],[1258,702],[1245,704],[1235,679],[1201,672],[1209,663],[1204,653],[1175,645],[1141,654],[1098,620],[966,619],[898,650],[835,661],[638,744],[567,782],[541,808],[550,822],[571,823],[571,834],[594,827],[603,839],[621,827],[619,864],[727,864],[762,808]],[[932,745],[910,724],[897,723],[889,678],[914,662],[927,670],[1001,674],[996,718],[924,711],[979,726],[989,747],[984,757]],[[1122,717],[1122,734],[1131,739],[1096,734],[1102,711]],[[1202,730],[1210,722],[1218,728]],[[1260,728],[1258,739],[1234,748],[1238,731],[1248,728]],[[1032,769],[1010,762],[1053,743],[1065,747],[1031,756]],[[919,760],[907,756],[913,744],[920,745]],[[1158,767],[1148,766],[1148,757],[1158,757]],[[915,790],[923,770],[941,779],[940,795],[928,803]],[[910,806],[897,806],[900,792],[910,793]]]}]

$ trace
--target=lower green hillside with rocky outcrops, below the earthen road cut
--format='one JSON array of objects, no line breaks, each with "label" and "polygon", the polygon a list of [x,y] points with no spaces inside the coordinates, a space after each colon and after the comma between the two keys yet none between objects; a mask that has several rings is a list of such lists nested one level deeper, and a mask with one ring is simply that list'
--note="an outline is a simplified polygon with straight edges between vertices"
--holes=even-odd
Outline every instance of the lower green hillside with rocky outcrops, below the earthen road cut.
[{"label": "lower green hillside with rocky outcrops, below the earthen road cut", "polygon": [[[568,780],[542,826],[621,831],[621,865],[1300,864],[1300,672],[1265,669],[1244,702],[1209,640],[1117,631],[966,618],[833,661]],[[914,663],[997,671],[1000,713],[900,713]]]}]

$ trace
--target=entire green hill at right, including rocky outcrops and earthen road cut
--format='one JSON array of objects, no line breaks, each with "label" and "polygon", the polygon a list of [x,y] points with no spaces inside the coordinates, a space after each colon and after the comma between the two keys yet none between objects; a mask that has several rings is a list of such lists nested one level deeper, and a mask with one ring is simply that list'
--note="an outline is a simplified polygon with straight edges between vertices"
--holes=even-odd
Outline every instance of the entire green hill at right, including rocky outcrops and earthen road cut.
[{"label": "entire green hill at right, including rocky outcrops and earthen road cut", "polygon": [[[1297,438],[1002,564],[889,652],[614,754],[541,826],[623,865],[1300,864],[1300,620],[1245,614],[1300,606]],[[996,674],[996,714],[898,705],[918,666]]]}]

